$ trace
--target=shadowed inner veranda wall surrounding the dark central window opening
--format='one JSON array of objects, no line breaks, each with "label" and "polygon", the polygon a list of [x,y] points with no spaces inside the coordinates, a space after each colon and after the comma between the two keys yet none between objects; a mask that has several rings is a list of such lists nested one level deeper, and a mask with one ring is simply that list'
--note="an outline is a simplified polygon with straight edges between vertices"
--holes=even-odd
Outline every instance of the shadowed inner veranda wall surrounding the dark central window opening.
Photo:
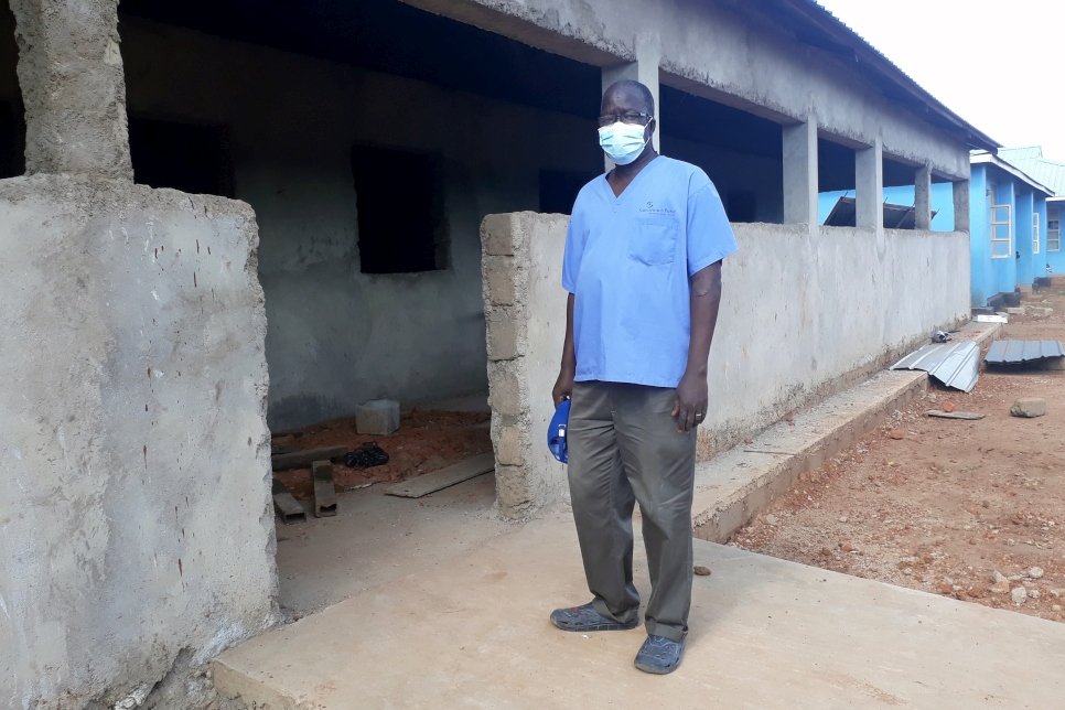
[{"label": "shadowed inner veranda wall surrounding the dark central window opening", "polygon": [[[137,19],[121,29],[132,114],[232,129],[237,197],[262,237],[271,426],[487,388],[481,219],[536,209],[541,168],[601,170],[592,122]],[[442,157],[447,269],[359,272],[356,142]]]}]

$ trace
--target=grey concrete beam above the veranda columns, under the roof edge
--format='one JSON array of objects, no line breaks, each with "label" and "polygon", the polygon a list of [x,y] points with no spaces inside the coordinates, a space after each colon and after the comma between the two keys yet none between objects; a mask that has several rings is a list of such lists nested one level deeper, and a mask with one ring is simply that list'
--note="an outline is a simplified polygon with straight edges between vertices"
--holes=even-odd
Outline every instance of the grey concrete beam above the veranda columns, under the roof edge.
[{"label": "grey concrete beam above the veranda columns, under the roof edge", "polygon": [[[886,99],[843,60],[798,44],[787,28],[743,3],[693,0],[405,0],[534,46],[601,66],[660,46],[661,83],[794,120],[815,115],[838,137],[871,144],[954,178],[968,150]],[[668,125],[669,117],[663,116]]]}]

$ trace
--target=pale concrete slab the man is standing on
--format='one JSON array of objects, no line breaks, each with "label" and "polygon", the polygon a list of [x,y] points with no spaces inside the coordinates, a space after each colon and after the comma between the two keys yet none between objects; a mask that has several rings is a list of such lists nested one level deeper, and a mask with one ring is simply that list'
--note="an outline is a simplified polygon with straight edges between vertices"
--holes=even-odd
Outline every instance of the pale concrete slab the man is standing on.
[{"label": "pale concrete slab the man is standing on", "polygon": [[[638,547],[638,546],[637,546]],[[215,661],[226,696],[277,708],[1054,708],[1065,625],[696,541],[691,635],[668,677],[632,632],[572,634],[587,601],[556,514],[366,589]],[[636,560],[646,593],[646,564]]]}]

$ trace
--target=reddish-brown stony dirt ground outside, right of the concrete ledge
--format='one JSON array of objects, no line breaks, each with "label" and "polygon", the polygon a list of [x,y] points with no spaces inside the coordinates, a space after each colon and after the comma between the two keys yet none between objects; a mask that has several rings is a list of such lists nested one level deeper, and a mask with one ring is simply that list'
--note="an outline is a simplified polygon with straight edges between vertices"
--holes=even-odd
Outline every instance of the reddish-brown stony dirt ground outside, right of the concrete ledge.
[{"label": "reddish-brown stony dirt ground outside, right of the concrete ledge", "polygon": [[[998,338],[1065,342],[1065,289],[1051,291],[1025,303],[1052,314],[1010,316]],[[1046,416],[1011,417],[1019,397],[1045,398]],[[925,416],[948,401],[987,418]],[[932,386],[731,544],[1065,622],[1065,370],[981,372],[970,394]]]}]

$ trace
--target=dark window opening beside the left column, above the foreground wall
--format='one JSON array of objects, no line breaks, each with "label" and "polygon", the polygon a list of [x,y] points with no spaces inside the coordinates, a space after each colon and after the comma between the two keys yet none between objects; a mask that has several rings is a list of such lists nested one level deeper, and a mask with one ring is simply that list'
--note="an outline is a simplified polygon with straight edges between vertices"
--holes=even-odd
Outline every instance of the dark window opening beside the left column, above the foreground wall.
[{"label": "dark window opening beside the left column, above the foreground wall", "polygon": [[138,184],[235,196],[225,127],[130,116],[129,152]]}]

